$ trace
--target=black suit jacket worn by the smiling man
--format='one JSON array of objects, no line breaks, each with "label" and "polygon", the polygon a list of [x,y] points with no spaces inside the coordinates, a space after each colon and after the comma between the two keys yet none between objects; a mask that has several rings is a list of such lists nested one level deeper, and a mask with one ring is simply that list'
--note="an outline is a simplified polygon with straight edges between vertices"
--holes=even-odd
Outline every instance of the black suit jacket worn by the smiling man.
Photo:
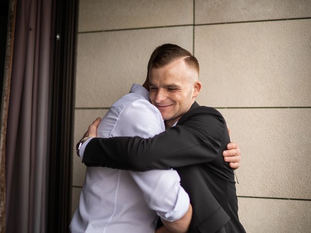
[{"label": "black suit jacket worn by the smiling man", "polygon": [[177,170],[193,207],[190,233],[243,233],[233,170],[222,152],[230,142],[224,117],[194,102],[177,125],[153,138],[94,138],[86,166]]}]

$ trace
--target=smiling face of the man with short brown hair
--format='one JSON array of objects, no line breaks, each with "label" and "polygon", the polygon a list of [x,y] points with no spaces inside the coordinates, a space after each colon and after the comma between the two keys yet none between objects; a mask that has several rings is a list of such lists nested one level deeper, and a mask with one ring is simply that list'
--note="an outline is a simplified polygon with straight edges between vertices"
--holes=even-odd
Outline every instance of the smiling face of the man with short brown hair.
[{"label": "smiling face of the man with short brown hair", "polygon": [[172,127],[191,107],[201,90],[198,73],[184,57],[149,73],[150,100],[157,107],[167,127]]}]

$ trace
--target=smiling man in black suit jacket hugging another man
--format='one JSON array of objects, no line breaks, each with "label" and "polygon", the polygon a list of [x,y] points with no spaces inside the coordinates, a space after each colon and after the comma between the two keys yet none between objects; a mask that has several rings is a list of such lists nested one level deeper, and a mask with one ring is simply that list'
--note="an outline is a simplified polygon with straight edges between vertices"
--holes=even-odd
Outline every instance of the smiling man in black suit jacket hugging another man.
[{"label": "smiling man in black suit jacket hugging another man", "polygon": [[187,50],[172,45],[160,51],[150,68],[150,99],[170,129],[149,139],[93,138],[83,162],[137,171],[173,167],[190,196],[190,233],[243,233],[234,173],[222,156],[230,142],[225,119],[195,102],[198,73]]}]

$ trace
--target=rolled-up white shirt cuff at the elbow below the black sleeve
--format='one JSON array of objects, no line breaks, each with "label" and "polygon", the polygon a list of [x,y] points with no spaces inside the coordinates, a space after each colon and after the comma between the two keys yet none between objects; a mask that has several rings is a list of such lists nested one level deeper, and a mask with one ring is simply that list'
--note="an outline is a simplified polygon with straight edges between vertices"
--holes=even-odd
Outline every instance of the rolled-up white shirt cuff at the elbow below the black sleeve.
[{"label": "rolled-up white shirt cuff at the elbow below the black sleeve", "polygon": [[190,204],[190,198],[189,198],[188,193],[186,193],[186,191],[181,186],[179,186],[178,196],[177,196],[174,209],[161,217],[164,220],[169,221],[169,222],[178,220],[186,214],[186,212],[189,209],[189,204]]}]

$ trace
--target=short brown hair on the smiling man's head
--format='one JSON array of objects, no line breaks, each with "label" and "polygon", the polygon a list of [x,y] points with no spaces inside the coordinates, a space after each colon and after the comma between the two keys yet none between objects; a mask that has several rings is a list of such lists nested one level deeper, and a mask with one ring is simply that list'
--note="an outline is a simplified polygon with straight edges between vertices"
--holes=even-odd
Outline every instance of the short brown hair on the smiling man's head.
[{"label": "short brown hair on the smiling man's head", "polygon": [[153,51],[148,62],[148,73],[151,67],[163,67],[182,57],[185,58],[184,61],[189,67],[194,68],[199,73],[199,62],[195,56],[193,56],[188,50],[173,44],[158,46]]}]

